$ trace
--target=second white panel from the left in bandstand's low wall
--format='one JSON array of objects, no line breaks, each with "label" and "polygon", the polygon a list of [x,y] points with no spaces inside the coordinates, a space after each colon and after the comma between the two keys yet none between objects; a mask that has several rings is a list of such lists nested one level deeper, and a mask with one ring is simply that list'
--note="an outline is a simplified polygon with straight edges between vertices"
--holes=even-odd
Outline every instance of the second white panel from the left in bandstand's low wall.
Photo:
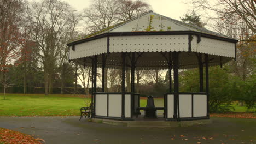
[{"label": "second white panel from the left in bandstand's low wall", "polygon": [[109,117],[121,117],[122,111],[122,95],[121,94],[109,94],[108,95],[108,116]]}]

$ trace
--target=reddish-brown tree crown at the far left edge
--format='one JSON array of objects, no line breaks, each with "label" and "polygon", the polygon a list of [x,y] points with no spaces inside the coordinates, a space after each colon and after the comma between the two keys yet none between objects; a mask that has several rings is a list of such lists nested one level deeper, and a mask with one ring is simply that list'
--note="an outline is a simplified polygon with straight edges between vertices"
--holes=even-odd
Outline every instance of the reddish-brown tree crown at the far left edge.
[{"label": "reddish-brown tree crown at the far left edge", "polygon": [[0,3],[0,71],[8,71],[9,64],[21,60],[22,44],[25,44],[19,30],[23,12],[22,1],[3,0]]}]

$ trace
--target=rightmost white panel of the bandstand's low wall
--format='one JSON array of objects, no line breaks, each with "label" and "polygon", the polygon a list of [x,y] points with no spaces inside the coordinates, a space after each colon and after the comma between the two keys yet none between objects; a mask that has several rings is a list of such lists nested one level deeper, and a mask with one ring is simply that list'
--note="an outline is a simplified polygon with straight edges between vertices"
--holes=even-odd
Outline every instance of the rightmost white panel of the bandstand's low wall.
[{"label": "rightmost white panel of the bandstand's low wall", "polygon": [[206,117],[207,115],[207,96],[194,95],[194,117]]}]

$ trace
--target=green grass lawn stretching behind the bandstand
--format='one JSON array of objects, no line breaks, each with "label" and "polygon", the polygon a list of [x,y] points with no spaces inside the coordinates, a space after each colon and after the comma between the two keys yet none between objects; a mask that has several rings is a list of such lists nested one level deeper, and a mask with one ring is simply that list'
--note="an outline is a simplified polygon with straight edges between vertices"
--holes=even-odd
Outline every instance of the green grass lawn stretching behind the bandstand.
[{"label": "green grass lawn stretching behind the bandstand", "polygon": [[[0,94],[0,116],[77,116],[80,107],[86,107],[90,98],[74,94]],[[164,106],[164,99],[155,98],[155,106]],[[141,107],[147,100],[141,98]],[[234,104],[235,112],[247,112],[246,107]],[[162,111],[159,111],[160,113]]]}]

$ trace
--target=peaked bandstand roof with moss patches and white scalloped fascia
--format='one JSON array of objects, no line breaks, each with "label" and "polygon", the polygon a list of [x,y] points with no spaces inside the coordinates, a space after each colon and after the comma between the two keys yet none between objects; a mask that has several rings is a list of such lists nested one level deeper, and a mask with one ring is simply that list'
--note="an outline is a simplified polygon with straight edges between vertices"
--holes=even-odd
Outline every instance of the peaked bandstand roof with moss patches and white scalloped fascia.
[{"label": "peaked bandstand roof with moss patches and white scalloped fascia", "polygon": [[[168,52],[176,51],[181,52],[179,68],[184,69],[198,66],[198,53],[209,55],[209,65],[224,64],[235,58],[236,43],[225,35],[149,11],[67,45],[69,59],[83,65],[91,64],[91,56],[106,53],[106,67],[118,68],[121,52],[129,56],[136,52],[137,69],[166,69]],[[99,56],[98,65],[101,63]]]}]

